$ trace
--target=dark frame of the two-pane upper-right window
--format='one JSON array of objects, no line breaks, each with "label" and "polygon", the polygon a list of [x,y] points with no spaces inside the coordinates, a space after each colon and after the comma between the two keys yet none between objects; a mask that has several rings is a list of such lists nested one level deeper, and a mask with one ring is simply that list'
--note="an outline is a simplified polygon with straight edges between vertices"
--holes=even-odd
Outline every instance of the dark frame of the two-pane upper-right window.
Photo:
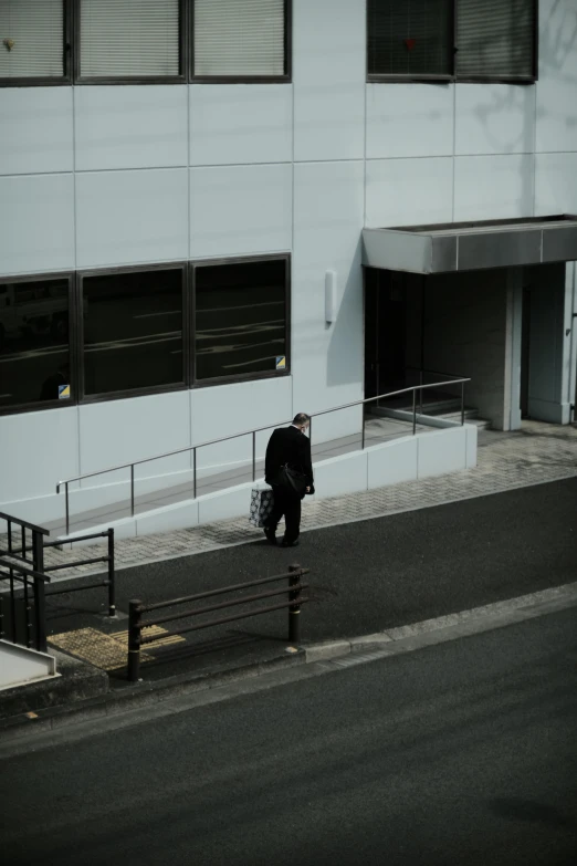
[{"label": "dark frame of the two-pane upper-right window", "polygon": [[369,73],[369,14],[368,4],[370,0],[366,2],[366,72],[367,82],[369,84],[535,84],[538,81],[538,46],[539,46],[539,0],[531,0],[533,3],[533,64],[531,75],[459,75],[457,72],[457,56],[459,54],[458,44],[458,19],[459,19],[459,0],[451,0],[452,9],[452,31],[453,31],[453,59],[452,59],[452,73],[449,75],[443,74],[421,74],[415,75],[412,73],[401,75],[395,73],[394,75],[386,75],[381,73]]}]

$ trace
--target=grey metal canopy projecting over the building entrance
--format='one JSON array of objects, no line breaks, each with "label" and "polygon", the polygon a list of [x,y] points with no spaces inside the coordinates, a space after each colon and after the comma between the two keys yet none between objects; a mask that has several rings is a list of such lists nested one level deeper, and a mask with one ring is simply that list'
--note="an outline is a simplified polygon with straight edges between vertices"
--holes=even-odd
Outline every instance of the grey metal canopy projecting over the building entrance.
[{"label": "grey metal canopy projecting over the building entrance", "polygon": [[577,216],[363,230],[363,263],[448,273],[577,260]]}]

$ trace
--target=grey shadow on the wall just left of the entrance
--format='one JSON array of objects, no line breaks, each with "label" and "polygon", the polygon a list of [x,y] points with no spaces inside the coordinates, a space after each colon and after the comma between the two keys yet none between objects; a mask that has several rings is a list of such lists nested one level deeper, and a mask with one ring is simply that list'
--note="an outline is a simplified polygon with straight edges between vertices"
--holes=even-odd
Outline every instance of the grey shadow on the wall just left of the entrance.
[{"label": "grey shadow on the wall just left of the entrance", "polygon": [[338,281],[344,281],[342,300],[337,286],[335,301],[336,319],[333,324],[325,324],[328,330],[328,352],[326,384],[328,388],[338,385],[363,385],[364,347],[363,347],[363,268],[361,268],[361,232],[350,262],[348,273],[338,271]]}]

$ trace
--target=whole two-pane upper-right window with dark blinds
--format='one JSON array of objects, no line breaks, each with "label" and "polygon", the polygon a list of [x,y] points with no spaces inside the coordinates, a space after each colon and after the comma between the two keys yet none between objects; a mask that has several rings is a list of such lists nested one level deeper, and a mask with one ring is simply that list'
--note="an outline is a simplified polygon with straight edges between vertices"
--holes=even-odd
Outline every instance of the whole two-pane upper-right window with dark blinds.
[{"label": "whole two-pane upper-right window with dark blinds", "polygon": [[370,81],[536,79],[537,0],[368,0]]}]

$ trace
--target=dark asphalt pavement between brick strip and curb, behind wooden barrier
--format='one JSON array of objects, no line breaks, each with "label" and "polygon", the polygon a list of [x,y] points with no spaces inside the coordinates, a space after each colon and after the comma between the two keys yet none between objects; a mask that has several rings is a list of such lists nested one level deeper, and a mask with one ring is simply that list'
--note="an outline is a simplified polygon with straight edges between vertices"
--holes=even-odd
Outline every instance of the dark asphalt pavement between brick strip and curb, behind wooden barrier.
[{"label": "dark asphalt pavement between brick strip and curb, behind wooden barrier", "polygon": [[[571,583],[577,478],[314,530],[297,549],[256,541],[123,570],[116,604],[127,612],[130,598],[153,603],[204,592],[279,574],[295,561],[311,568],[305,640],[371,634]],[[81,614],[104,602],[102,589],[51,599],[50,632],[94,625]],[[284,639],[286,614],[222,632]]]}]

